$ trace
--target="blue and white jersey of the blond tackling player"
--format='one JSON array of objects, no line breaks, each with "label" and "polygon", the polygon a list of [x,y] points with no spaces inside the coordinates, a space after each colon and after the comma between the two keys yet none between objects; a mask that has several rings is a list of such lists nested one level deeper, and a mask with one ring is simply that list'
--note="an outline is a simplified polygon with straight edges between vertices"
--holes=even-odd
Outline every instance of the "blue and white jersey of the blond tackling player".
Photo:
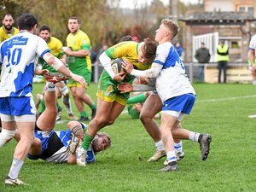
[{"label": "blue and white jersey of the blond tackling player", "polygon": [[183,61],[181,61],[172,43],[166,42],[158,45],[153,62],[163,66],[155,84],[162,102],[186,93],[195,94],[185,72]]}]

